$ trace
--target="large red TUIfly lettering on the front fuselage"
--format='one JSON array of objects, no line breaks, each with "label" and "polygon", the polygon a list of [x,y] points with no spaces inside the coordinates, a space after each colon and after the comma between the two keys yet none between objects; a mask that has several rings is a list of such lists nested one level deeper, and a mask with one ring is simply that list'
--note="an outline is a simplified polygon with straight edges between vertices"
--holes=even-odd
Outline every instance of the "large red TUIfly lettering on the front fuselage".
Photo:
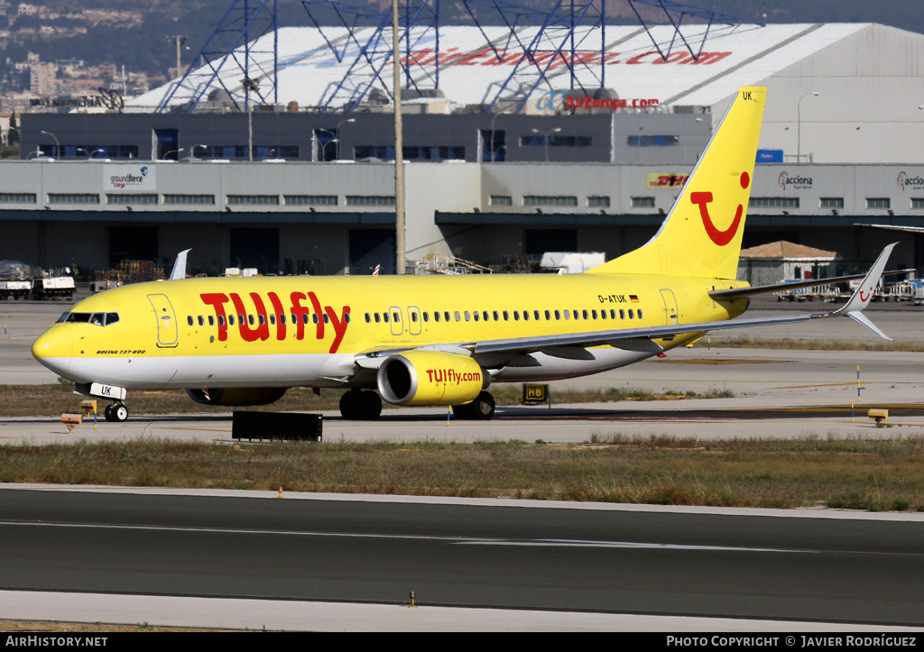
[{"label": "large red TUIfly lettering on the front fuselage", "polygon": [[[328,326],[334,332],[334,342],[331,344],[330,353],[336,353],[346,335],[346,328],[349,326],[349,306],[344,306],[338,315],[336,310],[331,306],[321,305],[318,296],[313,292],[305,294],[304,292],[293,292],[288,296],[289,307],[283,308],[282,299],[275,292],[266,293],[272,311],[268,313],[266,302],[263,297],[256,292],[249,293],[249,303],[253,309],[245,305],[244,299],[235,292],[225,295],[221,292],[211,292],[201,294],[202,303],[211,306],[215,311],[215,320],[218,322],[218,341],[225,342],[228,339],[228,326],[237,325],[240,337],[244,342],[265,341],[270,339],[270,327],[275,330],[275,338],[279,341],[286,339],[286,333],[289,328],[294,329],[295,338],[302,340],[305,338],[306,327],[314,326],[314,337],[317,340],[323,340]],[[310,302],[310,305],[304,305],[303,302]],[[234,311],[229,316],[225,306],[231,303]],[[269,314],[274,315],[271,323]],[[234,324],[234,317],[237,315],[237,324]],[[286,315],[291,315],[291,321],[286,323]],[[309,319],[309,315],[314,315]],[[256,319],[252,319],[256,316]]]}]

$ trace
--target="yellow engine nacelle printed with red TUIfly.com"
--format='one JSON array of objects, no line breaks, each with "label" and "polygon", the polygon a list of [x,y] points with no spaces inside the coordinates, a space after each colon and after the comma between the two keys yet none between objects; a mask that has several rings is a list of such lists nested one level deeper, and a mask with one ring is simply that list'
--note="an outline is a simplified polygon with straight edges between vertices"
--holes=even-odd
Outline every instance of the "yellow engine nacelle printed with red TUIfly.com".
[{"label": "yellow engine nacelle printed with red TUIfly.com", "polygon": [[491,376],[469,356],[418,350],[386,358],[376,382],[391,404],[460,405],[474,401]]}]

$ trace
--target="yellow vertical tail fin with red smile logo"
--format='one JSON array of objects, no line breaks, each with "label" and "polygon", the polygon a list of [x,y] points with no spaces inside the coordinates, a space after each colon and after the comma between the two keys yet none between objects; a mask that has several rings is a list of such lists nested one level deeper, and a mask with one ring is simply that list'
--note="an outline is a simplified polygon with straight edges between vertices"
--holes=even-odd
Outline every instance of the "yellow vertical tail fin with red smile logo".
[{"label": "yellow vertical tail fin with red smile logo", "polygon": [[589,273],[734,279],[766,99],[739,89],[658,233]]}]

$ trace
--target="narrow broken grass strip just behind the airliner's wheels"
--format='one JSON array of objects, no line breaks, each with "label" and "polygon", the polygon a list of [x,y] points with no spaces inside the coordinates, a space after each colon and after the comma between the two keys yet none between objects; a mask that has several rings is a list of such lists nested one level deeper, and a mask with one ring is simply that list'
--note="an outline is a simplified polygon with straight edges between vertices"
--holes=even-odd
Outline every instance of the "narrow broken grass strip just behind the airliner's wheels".
[{"label": "narrow broken grass strip just behind the airliner's wheels", "polygon": [[[81,397],[71,391],[72,384],[62,382],[56,385],[0,385],[0,417],[56,417],[64,412],[79,412]],[[494,385],[491,388],[498,405],[517,405],[523,398],[520,385]],[[342,390],[322,390],[321,395],[304,387],[296,387],[279,401],[270,405],[248,407],[249,410],[273,412],[336,410],[339,408]],[[553,401],[556,404],[608,403],[613,401],[654,401],[681,398],[727,398],[735,394],[726,389],[710,389],[704,393],[668,390],[663,393],[640,389],[611,388],[607,390],[556,390]],[[102,418],[106,401],[100,400],[97,412]],[[132,416],[228,413],[229,405],[203,405],[190,399],[184,390],[164,392],[129,392],[128,409]]]}]

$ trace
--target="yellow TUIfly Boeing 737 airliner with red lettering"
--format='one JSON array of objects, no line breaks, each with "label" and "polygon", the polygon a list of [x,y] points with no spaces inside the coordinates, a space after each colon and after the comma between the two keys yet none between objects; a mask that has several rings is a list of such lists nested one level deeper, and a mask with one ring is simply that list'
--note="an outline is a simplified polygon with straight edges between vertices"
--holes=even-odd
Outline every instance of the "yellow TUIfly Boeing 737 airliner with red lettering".
[{"label": "yellow TUIfly Boeing 737 airliner with red lettering", "polygon": [[77,392],[111,399],[113,421],[128,417],[127,390],[247,405],[290,387],[346,390],[346,418],[378,417],[382,399],[490,418],[492,382],[623,367],[712,330],[844,315],[885,337],[861,311],[894,245],[839,310],[733,319],[748,296],[779,289],[735,280],[765,100],[764,88],[738,91],[658,233],[590,272],[182,279],[175,270],[177,280],[80,301],[32,355]]}]

